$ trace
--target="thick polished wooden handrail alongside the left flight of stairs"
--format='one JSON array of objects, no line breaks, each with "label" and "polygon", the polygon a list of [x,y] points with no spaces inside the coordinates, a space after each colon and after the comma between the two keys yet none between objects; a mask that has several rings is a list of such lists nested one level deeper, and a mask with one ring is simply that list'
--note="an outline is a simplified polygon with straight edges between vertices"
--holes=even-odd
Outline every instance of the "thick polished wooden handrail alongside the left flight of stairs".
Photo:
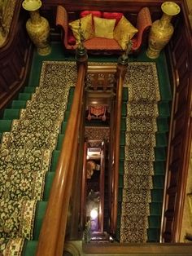
[{"label": "thick polished wooden handrail alongside the left flight of stairs", "polygon": [[81,103],[83,101],[85,72],[85,64],[79,64],[71,113],[63,139],[59,162],[55,171],[55,179],[50,191],[46,215],[41,227],[37,245],[37,256],[63,255],[68,207],[76,166],[75,155],[81,123]]}]

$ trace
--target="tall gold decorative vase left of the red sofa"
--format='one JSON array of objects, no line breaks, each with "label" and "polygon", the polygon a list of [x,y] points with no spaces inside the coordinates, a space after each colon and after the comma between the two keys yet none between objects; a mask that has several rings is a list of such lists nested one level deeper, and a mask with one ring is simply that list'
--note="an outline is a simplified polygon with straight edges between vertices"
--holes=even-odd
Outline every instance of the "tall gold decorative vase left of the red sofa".
[{"label": "tall gold decorative vase left of the red sofa", "polygon": [[35,46],[39,55],[49,55],[51,48],[49,43],[50,25],[46,18],[41,17],[39,8],[41,7],[40,0],[24,0],[22,6],[29,11],[30,18],[26,23],[26,29],[29,38]]}]

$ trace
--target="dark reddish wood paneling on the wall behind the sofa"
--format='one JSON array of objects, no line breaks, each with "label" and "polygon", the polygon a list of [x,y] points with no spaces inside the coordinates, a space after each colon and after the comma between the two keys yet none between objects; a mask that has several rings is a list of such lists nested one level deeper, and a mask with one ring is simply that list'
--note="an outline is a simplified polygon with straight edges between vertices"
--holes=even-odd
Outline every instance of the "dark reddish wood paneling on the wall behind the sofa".
[{"label": "dark reddish wood paneling on the wall behind the sofa", "polygon": [[[50,26],[52,29],[55,28],[55,16],[56,16],[56,7],[58,5],[62,5],[66,8],[68,13],[72,16],[72,20],[79,18],[80,11],[84,10],[96,10],[96,11],[120,11],[123,12],[125,16],[129,18],[129,20],[136,24],[137,13],[142,9],[142,7],[149,7],[151,11],[151,16],[153,20],[162,15],[162,11],[160,9],[161,3],[164,0],[156,0],[151,1],[142,1],[142,0],[119,0],[111,1],[111,0],[84,0],[84,1],[75,1],[75,0],[44,0],[42,2],[41,7],[41,15],[44,15],[47,20],[50,22]],[[74,15],[75,11],[75,15]],[[57,30],[57,29],[56,29]]]}]

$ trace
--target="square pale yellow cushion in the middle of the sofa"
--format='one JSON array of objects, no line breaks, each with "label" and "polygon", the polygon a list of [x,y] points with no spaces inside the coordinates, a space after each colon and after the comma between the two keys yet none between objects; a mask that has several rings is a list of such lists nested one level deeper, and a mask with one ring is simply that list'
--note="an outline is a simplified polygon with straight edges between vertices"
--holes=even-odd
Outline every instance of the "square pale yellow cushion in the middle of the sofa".
[{"label": "square pale yellow cushion in the middle of the sofa", "polygon": [[94,36],[96,38],[113,38],[116,19],[103,19],[94,16]]}]

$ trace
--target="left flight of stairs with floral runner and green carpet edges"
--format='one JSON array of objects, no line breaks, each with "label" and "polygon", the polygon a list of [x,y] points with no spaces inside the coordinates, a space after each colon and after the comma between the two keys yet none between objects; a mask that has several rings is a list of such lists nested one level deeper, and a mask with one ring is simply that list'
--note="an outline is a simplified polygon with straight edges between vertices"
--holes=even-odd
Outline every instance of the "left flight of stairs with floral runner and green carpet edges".
[{"label": "left flight of stairs with floral runner and green carpet edges", "polygon": [[75,83],[75,62],[44,62],[40,85],[25,87],[3,113],[0,254],[35,254]]}]

